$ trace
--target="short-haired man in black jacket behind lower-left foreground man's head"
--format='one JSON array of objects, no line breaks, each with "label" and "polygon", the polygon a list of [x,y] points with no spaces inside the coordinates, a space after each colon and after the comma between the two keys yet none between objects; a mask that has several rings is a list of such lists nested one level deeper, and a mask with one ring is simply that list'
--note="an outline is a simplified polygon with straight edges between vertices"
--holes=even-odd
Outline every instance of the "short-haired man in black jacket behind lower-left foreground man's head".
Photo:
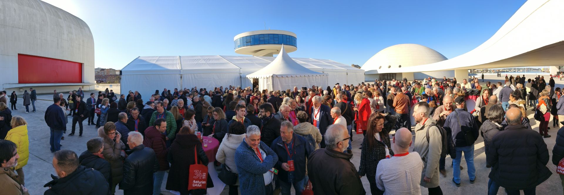
[{"label": "short-haired man in black jacket behind lower-left foreground man's head", "polygon": [[111,168],[109,162],[101,157],[104,150],[104,140],[100,137],[92,138],[86,142],[86,148],[87,150],[78,157],[78,162],[82,166],[100,171],[109,184],[111,182],[109,175]]}]

